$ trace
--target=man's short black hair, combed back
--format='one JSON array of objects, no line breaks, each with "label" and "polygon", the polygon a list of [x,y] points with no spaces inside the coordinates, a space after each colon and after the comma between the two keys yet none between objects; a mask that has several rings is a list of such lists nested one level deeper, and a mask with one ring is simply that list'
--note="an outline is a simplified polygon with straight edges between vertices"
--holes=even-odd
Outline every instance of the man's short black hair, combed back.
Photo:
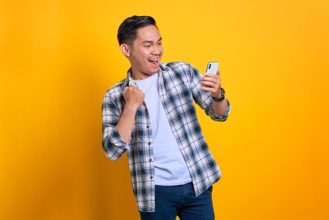
[{"label": "man's short black hair, combed back", "polygon": [[[154,25],[156,28],[156,22],[151,16],[137,16],[126,18],[119,26],[118,29],[118,41],[119,45],[129,44],[133,45],[137,37],[137,29],[148,25]],[[159,28],[158,28],[159,30]]]}]

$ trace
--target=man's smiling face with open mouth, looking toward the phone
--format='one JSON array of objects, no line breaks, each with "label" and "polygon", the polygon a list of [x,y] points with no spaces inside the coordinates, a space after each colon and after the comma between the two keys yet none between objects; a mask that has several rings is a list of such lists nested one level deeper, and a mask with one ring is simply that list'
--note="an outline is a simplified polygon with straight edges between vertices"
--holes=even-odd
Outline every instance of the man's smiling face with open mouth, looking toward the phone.
[{"label": "man's smiling face with open mouth, looking toward the phone", "polygon": [[154,25],[139,28],[128,58],[134,78],[145,79],[158,72],[163,52],[159,30]]}]

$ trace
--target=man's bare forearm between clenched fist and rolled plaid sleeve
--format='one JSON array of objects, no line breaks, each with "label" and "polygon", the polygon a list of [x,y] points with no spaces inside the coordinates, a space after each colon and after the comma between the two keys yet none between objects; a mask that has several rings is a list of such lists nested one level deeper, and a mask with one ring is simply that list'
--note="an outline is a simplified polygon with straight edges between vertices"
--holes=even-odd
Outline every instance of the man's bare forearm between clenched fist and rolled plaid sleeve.
[{"label": "man's bare forearm between clenched fist and rolled plaid sleeve", "polygon": [[122,115],[117,124],[117,130],[125,142],[129,142],[131,138],[132,127],[134,125],[136,109],[125,106]]}]

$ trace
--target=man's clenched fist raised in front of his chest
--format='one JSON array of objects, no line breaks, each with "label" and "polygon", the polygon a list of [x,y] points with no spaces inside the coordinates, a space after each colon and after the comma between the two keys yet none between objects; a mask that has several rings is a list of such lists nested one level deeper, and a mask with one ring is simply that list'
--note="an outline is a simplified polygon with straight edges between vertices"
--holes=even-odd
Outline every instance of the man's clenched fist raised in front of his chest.
[{"label": "man's clenched fist raised in front of his chest", "polygon": [[144,101],[145,94],[141,89],[135,86],[126,87],[123,91],[125,106],[137,110]]}]

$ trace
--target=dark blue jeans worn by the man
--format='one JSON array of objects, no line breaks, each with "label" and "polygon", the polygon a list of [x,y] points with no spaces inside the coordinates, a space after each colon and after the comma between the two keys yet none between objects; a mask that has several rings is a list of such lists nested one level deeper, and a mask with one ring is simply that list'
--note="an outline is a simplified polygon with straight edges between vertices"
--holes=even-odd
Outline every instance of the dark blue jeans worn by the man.
[{"label": "dark blue jeans worn by the man", "polygon": [[140,212],[142,220],[214,220],[212,186],[195,197],[192,182],[177,186],[155,185],[155,212]]}]

